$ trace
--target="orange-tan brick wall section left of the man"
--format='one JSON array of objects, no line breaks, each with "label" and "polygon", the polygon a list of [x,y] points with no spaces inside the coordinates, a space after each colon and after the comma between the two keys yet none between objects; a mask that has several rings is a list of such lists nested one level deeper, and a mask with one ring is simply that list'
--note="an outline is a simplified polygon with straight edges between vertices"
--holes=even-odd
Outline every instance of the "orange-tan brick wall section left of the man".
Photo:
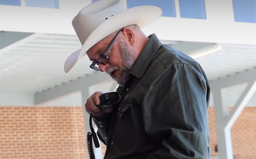
[{"label": "orange-tan brick wall section left of the man", "polygon": [[80,107],[0,107],[0,159],[85,159]]}]

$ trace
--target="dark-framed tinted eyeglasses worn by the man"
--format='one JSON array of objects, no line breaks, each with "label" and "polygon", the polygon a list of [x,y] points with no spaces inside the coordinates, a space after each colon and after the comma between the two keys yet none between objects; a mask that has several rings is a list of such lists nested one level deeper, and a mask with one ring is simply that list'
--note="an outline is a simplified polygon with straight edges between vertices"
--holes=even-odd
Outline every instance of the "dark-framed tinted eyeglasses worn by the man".
[{"label": "dark-framed tinted eyeglasses worn by the man", "polygon": [[99,71],[99,64],[106,65],[108,63],[108,61],[109,61],[108,52],[110,51],[113,44],[115,43],[115,40],[116,40],[118,34],[121,33],[122,31],[123,31],[123,29],[118,31],[118,33],[115,35],[113,40],[110,42],[110,44],[108,45],[108,47],[106,48],[104,53],[98,57],[96,62],[92,62],[92,64],[90,65],[90,68],[94,69],[95,71]]}]

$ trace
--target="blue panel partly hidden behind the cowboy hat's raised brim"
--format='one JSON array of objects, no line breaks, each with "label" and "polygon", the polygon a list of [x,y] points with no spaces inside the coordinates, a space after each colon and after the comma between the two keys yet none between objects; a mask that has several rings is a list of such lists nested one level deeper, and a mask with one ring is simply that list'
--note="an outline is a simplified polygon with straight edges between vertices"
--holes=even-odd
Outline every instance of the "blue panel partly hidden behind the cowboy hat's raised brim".
[{"label": "blue panel partly hidden behind the cowboy hat's raised brim", "polygon": [[141,5],[154,5],[160,7],[163,11],[162,16],[176,17],[174,0],[127,0],[127,8]]}]

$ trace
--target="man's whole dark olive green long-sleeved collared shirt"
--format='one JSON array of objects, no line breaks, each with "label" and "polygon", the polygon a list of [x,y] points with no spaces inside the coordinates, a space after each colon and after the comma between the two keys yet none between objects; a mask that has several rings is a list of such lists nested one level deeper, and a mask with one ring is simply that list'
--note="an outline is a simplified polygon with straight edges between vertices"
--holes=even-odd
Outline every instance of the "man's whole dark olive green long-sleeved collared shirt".
[{"label": "man's whole dark olive green long-sleeved collared shirt", "polygon": [[120,104],[95,119],[104,159],[210,159],[209,83],[199,63],[155,34],[119,86]]}]

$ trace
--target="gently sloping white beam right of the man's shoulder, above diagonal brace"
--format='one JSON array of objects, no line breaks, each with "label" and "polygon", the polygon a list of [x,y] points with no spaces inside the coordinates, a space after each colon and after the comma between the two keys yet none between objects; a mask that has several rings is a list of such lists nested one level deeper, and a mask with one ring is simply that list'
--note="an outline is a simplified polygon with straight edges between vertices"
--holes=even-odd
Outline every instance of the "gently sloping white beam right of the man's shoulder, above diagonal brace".
[{"label": "gently sloping white beam right of the man's shoulder, above diagonal brace", "polygon": [[211,88],[225,88],[240,83],[247,83],[249,79],[256,79],[256,68],[211,81],[210,85]]}]

